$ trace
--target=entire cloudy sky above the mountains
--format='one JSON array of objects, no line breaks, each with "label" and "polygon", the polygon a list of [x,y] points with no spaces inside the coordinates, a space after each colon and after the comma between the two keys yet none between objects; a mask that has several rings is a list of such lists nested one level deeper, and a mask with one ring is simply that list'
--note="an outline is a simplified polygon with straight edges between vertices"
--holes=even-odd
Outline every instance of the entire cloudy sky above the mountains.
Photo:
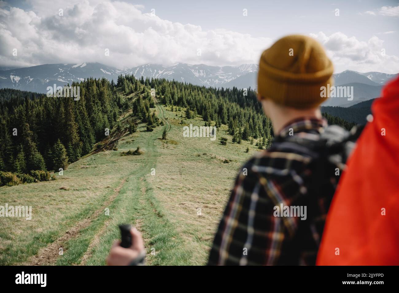
[{"label": "entire cloudy sky above the mountains", "polygon": [[0,0],[0,67],[258,63],[273,41],[301,33],[324,45],[335,72],[398,73],[398,25],[399,0]]}]

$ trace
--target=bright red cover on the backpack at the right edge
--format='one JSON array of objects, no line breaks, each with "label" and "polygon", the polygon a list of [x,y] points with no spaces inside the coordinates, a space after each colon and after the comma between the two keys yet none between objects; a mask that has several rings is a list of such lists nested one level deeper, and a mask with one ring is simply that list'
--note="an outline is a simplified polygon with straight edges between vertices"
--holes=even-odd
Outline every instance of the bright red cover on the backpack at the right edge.
[{"label": "bright red cover on the backpack at the right edge", "polygon": [[332,199],[317,265],[399,265],[399,78],[371,111]]}]

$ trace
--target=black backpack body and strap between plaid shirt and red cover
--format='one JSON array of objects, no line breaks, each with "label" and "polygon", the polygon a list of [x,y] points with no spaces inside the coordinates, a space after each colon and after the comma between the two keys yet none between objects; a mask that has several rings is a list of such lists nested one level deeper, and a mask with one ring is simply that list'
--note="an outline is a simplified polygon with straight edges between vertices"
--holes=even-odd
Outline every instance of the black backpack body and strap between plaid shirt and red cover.
[{"label": "black backpack body and strap between plaid shirt and red cover", "polygon": [[[326,212],[330,206],[332,196],[335,193],[335,187],[331,184],[330,179],[335,178],[336,168],[339,175],[341,170],[346,168],[346,161],[356,146],[362,126],[355,126],[351,131],[344,128],[331,125],[324,129],[318,140],[311,140],[300,136],[276,137],[269,151],[286,151],[291,153],[299,153],[311,158],[307,168],[312,170],[312,174],[307,178],[307,193],[303,199],[303,205],[308,207],[306,221],[299,221],[298,229],[294,238],[288,243],[289,254],[281,258],[282,264],[292,264],[292,260],[296,260],[303,251],[317,251],[320,245],[320,239],[315,239],[317,247],[306,246],[304,239],[312,237],[311,231],[318,231],[322,235],[324,230],[324,220],[316,220],[314,210],[320,208],[320,197],[331,195],[324,201]],[[315,134],[316,135],[316,134]],[[339,179],[339,176],[338,176]],[[338,180],[337,180],[338,182]],[[309,223],[310,226],[309,226]],[[310,228],[310,229],[309,229]],[[316,255],[314,255],[316,263]]]}]

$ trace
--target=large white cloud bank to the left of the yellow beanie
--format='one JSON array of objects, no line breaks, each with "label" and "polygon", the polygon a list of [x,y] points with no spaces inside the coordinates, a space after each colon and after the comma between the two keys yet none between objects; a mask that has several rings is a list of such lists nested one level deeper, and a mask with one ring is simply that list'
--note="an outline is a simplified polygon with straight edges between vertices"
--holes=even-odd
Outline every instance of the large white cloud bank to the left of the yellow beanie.
[{"label": "large white cloud bank to the left of the yellow beanie", "polygon": [[[265,37],[173,23],[125,2],[83,1],[65,8],[63,16],[58,15],[62,7],[58,4],[47,10],[42,7],[44,2],[35,4],[38,14],[0,8],[4,36],[0,63],[31,66],[96,61],[120,68],[177,62],[238,65],[257,63],[262,50],[271,45]],[[18,49],[17,57],[12,56],[13,48]]]}]

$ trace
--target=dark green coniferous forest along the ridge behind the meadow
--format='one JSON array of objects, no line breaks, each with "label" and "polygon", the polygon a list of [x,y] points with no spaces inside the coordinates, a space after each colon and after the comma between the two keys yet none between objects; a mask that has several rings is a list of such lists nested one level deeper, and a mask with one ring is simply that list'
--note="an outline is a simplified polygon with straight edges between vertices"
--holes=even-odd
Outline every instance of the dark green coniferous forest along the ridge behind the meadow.
[{"label": "dark green coniferous forest along the ridge behind the meadow", "polygon": [[[165,106],[186,108],[186,118],[199,115],[206,125],[228,126],[233,142],[258,139],[259,148],[268,147],[273,136],[271,121],[263,114],[255,90],[207,88],[166,79],[136,79],[120,75],[117,83],[107,79],[85,79],[80,99],[48,97],[45,94],[0,89],[0,180],[12,182],[50,180],[49,171],[58,172],[89,153],[103,140],[106,129],[120,131],[117,120],[122,110],[132,107],[134,120],[158,124],[151,88]],[[124,97],[134,93],[129,104]],[[132,96],[130,96],[132,98]],[[347,129],[353,123],[323,114],[330,124]],[[55,177],[53,177],[55,179]]]}]

